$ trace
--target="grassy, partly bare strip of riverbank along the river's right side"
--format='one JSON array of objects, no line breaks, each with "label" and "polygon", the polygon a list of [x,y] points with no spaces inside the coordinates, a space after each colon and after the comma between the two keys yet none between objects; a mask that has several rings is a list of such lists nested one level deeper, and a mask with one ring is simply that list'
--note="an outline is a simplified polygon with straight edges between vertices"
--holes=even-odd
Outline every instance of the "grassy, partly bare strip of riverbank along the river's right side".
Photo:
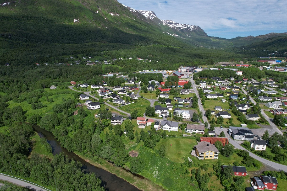
[{"label": "grassy, partly bare strip of riverbank along the river's right side", "polygon": [[133,186],[137,187],[140,190],[144,191],[164,191],[163,188],[155,184],[154,182],[144,178],[142,179],[141,177],[137,177],[130,172],[125,171],[124,169],[120,167],[116,167],[113,164],[107,162],[104,159],[99,158],[99,161],[102,164],[99,164],[97,162],[94,162],[93,160],[90,160],[88,157],[82,155],[79,152],[74,152],[76,155],[84,159],[86,162],[89,162],[90,164],[102,168],[112,174],[115,174],[116,176],[123,178],[125,181],[129,182]]}]

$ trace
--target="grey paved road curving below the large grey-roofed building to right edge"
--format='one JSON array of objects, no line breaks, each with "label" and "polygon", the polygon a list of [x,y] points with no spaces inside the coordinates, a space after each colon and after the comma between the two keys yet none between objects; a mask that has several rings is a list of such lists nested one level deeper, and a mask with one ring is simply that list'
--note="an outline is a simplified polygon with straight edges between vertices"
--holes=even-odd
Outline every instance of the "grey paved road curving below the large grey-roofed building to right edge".
[{"label": "grey paved road curving below the large grey-roofed building to right edge", "polygon": [[[240,143],[241,143],[242,141],[233,140],[232,137],[230,137],[230,136],[228,135],[227,129],[224,128],[223,130],[221,130],[219,127],[216,127],[214,131],[215,131],[215,133],[218,134],[218,135],[220,134],[221,131],[224,131],[225,136],[228,137],[228,139],[229,139],[229,141],[230,141],[230,144],[232,144],[232,145],[233,145],[235,148],[237,148],[237,149],[243,149],[243,150],[249,151],[249,150],[243,148],[243,147],[240,145]],[[276,162],[272,162],[272,161],[266,160],[266,159],[264,159],[264,158],[261,158],[261,157],[255,155],[255,154],[252,153],[252,152],[249,152],[249,156],[253,157],[254,159],[256,159],[256,160],[262,162],[263,164],[265,164],[265,165],[267,165],[267,166],[270,166],[270,167],[272,167],[272,168],[275,168],[276,170],[284,170],[285,172],[287,172],[287,166],[286,166],[286,165],[278,164],[278,163],[276,163]]]}]

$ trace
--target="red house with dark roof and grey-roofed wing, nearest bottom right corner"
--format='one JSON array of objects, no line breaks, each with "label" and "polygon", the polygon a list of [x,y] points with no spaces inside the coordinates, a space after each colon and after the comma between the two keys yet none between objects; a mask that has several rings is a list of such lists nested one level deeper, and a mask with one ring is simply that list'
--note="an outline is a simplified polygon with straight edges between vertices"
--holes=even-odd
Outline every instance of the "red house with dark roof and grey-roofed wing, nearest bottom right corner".
[{"label": "red house with dark roof and grey-roofed wing, nearest bottom right corner", "polygon": [[277,186],[278,186],[278,182],[277,179],[275,177],[271,177],[271,176],[264,176],[264,175],[260,175],[260,177],[254,177],[253,178],[254,181],[254,187],[258,190],[264,190],[266,188],[266,190],[276,190]]}]

